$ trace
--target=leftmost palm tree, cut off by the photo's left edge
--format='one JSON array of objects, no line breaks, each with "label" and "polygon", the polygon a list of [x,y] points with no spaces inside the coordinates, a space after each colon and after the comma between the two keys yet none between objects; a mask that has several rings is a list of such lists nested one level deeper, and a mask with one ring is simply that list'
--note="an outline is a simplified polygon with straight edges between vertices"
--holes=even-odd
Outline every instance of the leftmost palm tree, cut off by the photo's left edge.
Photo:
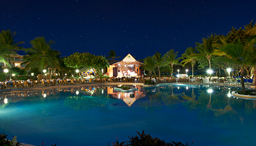
[{"label": "leftmost palm tree, cut off by the photo's left edge", "polygon": [[[25,42],[18,42],[15,43],[14,36],[16,35],[16,32],[11,32],[10,30],[2,30],[0,33],[0,47],[1,54],[4,55],[5,58],[9,58],[9,65],[10,65],[10,54],[17,54],[16,51],[22,50],[23,47],[20,47],[18,45],[23,44]],[[2,59],[3,60],[3,59]],[[4,60],[3,60],[4,61]]]}]

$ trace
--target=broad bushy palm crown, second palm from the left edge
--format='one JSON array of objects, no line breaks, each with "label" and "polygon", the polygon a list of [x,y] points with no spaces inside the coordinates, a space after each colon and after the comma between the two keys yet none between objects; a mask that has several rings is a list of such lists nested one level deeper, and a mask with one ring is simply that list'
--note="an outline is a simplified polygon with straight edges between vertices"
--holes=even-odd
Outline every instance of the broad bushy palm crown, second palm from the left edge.
[{"label": "broad bushy palm crown, second palm from the left edge", "polygon": [[52,50],[51,44],[54,42],[46,42],[43,37],[38,37],[30,41],[31,48],[27,49],[28,56],[25,56],[24,64],[27,64],[26,68],[34,68],[42,70],[44,68],[60,69],[59,60],[60,52]]}]

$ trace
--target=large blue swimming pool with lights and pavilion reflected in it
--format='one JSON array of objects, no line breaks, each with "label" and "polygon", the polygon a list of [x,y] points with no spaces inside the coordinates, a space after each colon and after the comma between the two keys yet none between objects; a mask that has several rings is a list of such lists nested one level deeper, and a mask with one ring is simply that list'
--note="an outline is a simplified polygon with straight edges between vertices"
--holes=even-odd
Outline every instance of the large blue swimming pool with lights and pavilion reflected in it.
[{"label": "large blue swimming pool with lights and pavilion reflected in it", "polygon": [[129,93],[91,86],[2,94],[0,131],[33,145],[106,145],[142,130],[167,142],[256,144],[256,102],[230,97],[237,88],[136,88]]}]

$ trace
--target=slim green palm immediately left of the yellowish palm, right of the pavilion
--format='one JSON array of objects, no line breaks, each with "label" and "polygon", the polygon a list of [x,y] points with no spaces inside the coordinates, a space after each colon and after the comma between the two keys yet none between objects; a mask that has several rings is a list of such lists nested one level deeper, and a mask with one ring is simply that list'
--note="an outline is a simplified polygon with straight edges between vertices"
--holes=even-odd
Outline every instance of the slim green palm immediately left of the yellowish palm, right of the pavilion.
[{"label": "slim green palm immediately left of the yellowish palm, right of the pavilion", "polygon": [[180,65],[179,59],[182,58],[182,57],[177,58],[178,52],[179,52],[179,51],[177,51],[176,53],[174,53],[174,50],[172,49],[172,50],[168,51],[168,52],[164,55],[167,64],[169,64],[169,65],[171,66],[171,77],[172,77],[172,72],[173,72],[173,65]]}]

